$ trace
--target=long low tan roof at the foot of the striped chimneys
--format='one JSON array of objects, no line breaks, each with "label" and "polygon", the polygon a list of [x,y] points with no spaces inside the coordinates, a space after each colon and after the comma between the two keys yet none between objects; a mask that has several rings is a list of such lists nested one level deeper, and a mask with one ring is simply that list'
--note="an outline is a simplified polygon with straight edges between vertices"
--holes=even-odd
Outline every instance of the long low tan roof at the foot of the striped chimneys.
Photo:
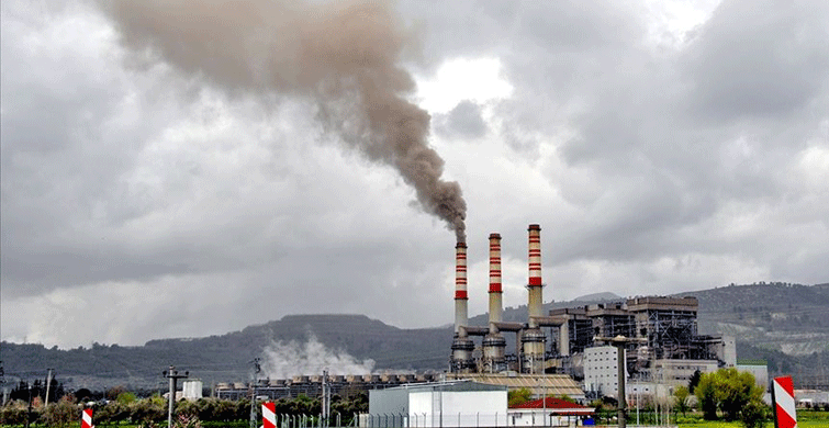
[{"label": "long low tan roof at the foot of the striped chimneys", "polygon": [[503,385],[509,390],[527,388],[533,395],[567,395],[583,397],[581,385],[567,374],[517,374],[517,373],[448,373],[447,376],[468,379],[490,385]]}]

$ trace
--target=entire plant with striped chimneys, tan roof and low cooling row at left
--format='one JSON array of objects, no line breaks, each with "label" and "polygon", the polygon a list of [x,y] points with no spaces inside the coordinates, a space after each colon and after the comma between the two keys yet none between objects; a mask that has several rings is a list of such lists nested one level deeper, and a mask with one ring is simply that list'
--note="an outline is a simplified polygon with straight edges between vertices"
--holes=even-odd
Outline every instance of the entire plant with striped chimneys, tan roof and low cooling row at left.
[{"label": "entire plant with striped chimneys, tan roof and low cooling row at left", "polygon": [[[477,390],[486,390],[480,385],[492,385],[497,391],[524,387],[538,397],[567,395],[587,402],[617,395],[617,352],[621,349],[626,392],[631,397],[635,395],[638,403],[666,397],[674,386],[686,385],[697,370],[709,372],[737,365],[733,338],[697,333],[695,297],[639,296],[545,314],[541,227],[531,224],[527,232],[528,317],[524,323],[502,319],[501,235],[493,233],[489,237],[488,325],[470,325],[467,245],[457,244],[453,339],[442,372],[261,380],[256,385],[256,394],[279,398],[318,395],[326,387],[333,393],[348,394],[411,384],[469,381]],[[621,346],[619,338],[624,339]],[[514,347],[508,347],[507,342]],[[768,375],[754,374],[758,383],[765,385]],[[459,385],[452,386],[452,391],[462,388],[463,384]],[[221,397],[247,394],[249,388],[244,384],[220,384],[216,390]]]}]

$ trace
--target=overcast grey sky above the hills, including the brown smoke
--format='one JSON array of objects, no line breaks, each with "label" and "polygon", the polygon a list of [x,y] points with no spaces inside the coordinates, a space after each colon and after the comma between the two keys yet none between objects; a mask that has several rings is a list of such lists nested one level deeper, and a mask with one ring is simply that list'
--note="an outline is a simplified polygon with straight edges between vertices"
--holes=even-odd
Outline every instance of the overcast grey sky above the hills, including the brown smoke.
[{"label": "overcast grey sky above the hills, including the brown smoke", "polygon": [[829,2],[221,3],[0,3],[3,340],[829,281]]}]

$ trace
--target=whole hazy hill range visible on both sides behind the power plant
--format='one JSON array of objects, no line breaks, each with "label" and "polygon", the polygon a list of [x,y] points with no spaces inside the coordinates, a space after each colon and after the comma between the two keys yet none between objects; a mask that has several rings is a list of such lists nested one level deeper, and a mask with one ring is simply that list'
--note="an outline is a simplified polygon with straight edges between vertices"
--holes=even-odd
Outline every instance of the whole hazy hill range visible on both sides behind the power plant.
[{"label": "whole hazy hill range visible on both sides behind the power plant", "polygon": [[[737,336],[738,358],[764,359],[772,373],[802,373],[800,379],[825,374],[829,363],[829,284],[731,285],[677,295],[699,300],[701,333]],[[594,296],[610,297],[598,294],[545,306],[619,300],[589,300]],[[504,309],[505,320],[522,322],[526,316],[526,306]],[[485,325],[486,315],[472,317],[470,324]],[[46,368],[54,368],[70,387],[123,384],[161,388],[161,371],[168,365],[189,370],[210,385],[249,379],[254,358],[264,358],[264,367],[277,369],[291,369],[292,362],[287,361],[295,358],[326,358],[326,364],[367,368],[371,363],[363,360],[370,359],[376,371],[440,371],[446,368],[451,339],[451,327],[401,329],[362,315],[291,315],[221,336],[150,340],[139,347],[94,343],[60,350],[2,342],[0,359],[7,382],[43,376]],[[511,347],[512,342],[507,340]],[[273,373],[284,372],[277,369]]]}]

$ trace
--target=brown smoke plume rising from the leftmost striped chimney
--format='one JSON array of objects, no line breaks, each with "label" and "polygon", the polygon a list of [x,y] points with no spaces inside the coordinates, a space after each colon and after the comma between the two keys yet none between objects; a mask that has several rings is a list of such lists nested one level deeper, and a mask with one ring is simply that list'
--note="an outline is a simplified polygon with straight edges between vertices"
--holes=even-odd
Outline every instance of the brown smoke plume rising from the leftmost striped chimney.
[{"label": "brown smoke plume rising from the leftmost striped chimney", "polygon": [[310,97],[321,117],[370,159],[394,166],[423,207],[463,241],[466,202],[440,179],[429,115],[403,95],[404,27],[384,1],[100,0],[122,43],[228,91]]}]

